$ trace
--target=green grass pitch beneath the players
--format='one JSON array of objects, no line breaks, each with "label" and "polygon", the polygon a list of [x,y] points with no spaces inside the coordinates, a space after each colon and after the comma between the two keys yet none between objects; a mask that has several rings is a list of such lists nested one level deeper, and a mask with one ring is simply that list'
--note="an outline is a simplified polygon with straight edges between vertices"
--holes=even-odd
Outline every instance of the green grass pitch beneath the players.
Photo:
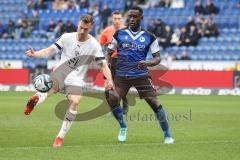
[{"label": "green grass pitch beneath the players", "polygon": [[[54,95],[30,116],[23,110],[32,93],[0,92],[0,160],[76,159],[235,159],[240,157],[240,98],[234,96],[160,96],[169,115],[174,145],[164,145],[151,109],[137,100],[130,107],[128,139],[117,142],[118,125],[111,115],[75,122],[64,147],[53,149],[61,120],[54,114]],[[79,111],[99,103],[84,98]],[[138,116],[140,115],[140,116]]]}]

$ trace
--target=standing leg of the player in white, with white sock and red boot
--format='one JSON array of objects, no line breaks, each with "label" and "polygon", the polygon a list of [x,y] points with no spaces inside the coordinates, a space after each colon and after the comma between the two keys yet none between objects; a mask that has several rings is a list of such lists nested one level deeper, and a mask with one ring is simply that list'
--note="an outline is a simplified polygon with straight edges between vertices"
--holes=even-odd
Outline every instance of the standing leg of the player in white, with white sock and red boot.
[{"label": "standing leg of the player in white, with white sock and red boot", "polygon": [[67,112],[64,116],[62,127],[61,127],[57,137],[54,140],[53,147],[61,147],[62,146],[63,139],[64,139],[65,135],[67,134],[67,132],[69,131],[69,129],[72,125],[72,122],[76,118],[77,106],[80,102],[81,97],[82,97],[81,95],[68,95],[69,109],[67,110]]}]

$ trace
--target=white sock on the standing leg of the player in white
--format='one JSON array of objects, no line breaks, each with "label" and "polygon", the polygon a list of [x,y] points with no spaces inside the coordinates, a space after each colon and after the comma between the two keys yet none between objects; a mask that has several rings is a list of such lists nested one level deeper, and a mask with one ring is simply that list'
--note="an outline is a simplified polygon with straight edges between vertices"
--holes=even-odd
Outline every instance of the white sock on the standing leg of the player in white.
[{"label": "white sock on the standing leg of the player in white", "polygon": [[72,125],[72,122],[76,118],[76,115],[77,115],[77,111],[74,111],[74,110],[71,110],[71,109],[69,109],[66,112],[64,120],[63,120],[62,127],[61,127],[57,137],[60,137],[60,138],[65,137],[65,135],[67,134],[67,132],[69,131],[69,129]]}]

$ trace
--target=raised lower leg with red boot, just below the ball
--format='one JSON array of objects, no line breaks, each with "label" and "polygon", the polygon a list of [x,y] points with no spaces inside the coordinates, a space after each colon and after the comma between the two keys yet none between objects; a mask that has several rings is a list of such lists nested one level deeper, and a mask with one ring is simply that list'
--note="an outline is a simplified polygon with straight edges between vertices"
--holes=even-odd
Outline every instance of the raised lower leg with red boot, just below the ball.
[{"label": "raised lower leg with red boot, just below the ball", "polygon": [[41,92],[35,93],[33,96],[29,98],[25,106],[24,114],[29,115],[37,105],[43,103],[46,100],[46,98],[51,94],[53,94],[54,92],[55,90],[52,88],[47,93],[41,93]]}]

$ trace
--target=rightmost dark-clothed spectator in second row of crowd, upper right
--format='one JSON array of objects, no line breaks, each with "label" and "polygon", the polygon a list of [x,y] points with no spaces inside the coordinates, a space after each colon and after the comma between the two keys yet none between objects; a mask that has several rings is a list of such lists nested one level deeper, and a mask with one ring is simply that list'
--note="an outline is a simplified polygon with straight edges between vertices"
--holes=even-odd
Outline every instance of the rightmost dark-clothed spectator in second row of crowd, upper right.
[{"label": "rightmost dark-clothed spectator in second row of crowd, upper right", "polygon": [[207,29],[205,31],[206,37],[217,37],[219,36],[219,31],[217,28],[217,25],[213,22],[213,19],[211,17],[207,20]]}]

